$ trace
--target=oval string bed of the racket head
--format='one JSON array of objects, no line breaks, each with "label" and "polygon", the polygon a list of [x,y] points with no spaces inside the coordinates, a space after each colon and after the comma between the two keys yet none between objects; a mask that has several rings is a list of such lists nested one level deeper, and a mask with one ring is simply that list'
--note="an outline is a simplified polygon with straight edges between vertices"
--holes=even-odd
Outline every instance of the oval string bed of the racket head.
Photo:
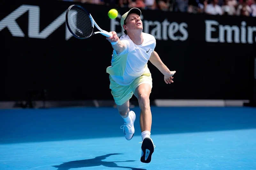
[{"label": "oval string bed of the racket head", "polygon": [[68,12],[68,22],[71,31],[80,38],[87,38],[93,32],[92,21],[82,8],[74,6]]}]

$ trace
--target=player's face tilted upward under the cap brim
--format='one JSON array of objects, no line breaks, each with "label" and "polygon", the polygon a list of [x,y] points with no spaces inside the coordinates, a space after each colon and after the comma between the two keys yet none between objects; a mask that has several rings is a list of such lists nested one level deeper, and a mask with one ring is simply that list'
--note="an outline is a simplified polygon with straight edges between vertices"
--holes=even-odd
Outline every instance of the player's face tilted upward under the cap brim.
[{"label": "player's face tilted upward under the cap brim", "polygon": [[126,20],[126,27],[128,30],[142,30],[142,21],[140,20],[140,16],[135,13],[131,13],[127,16]]}]

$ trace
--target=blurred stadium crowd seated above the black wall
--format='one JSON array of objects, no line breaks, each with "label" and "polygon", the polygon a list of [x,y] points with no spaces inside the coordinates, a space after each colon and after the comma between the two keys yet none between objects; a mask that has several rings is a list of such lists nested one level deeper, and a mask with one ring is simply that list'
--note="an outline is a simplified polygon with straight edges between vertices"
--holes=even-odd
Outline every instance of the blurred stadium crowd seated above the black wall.
[{"label": "blurred stadium crowd seated above the black wall", "polygon": [[149,10],[256,17],[256,0],[62,0]]}]

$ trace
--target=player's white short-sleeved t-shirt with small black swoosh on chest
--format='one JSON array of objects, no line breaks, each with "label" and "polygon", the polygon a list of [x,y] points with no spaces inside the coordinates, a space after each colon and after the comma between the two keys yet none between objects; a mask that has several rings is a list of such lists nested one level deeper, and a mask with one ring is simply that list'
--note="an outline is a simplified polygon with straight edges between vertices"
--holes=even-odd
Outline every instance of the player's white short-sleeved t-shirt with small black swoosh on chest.
[{"label": "player's white short-sleeved t-shirt with small black swoosh on chest", "polygon": [[125,49],[121,53],[113,50],[111,66],[107,67],[106,72],[122,86],[131,84],[147,69],[148,60],[156,46],[156,39],[144,32],[142,36],[143,43],[136,45],[128,35],[122,35],[120,41],[125,43]]}]

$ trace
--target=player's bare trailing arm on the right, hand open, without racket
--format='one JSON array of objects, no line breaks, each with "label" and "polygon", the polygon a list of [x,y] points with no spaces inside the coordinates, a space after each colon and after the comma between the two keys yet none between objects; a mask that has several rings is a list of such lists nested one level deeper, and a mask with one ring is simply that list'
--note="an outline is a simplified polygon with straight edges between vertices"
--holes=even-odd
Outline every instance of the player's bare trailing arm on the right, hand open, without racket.
[{"label": "player's bare trailing arm on the right, hand open, without racket", "polygon": [[166,84],[173,83],[173,75],[176,73],[176,71],[170,71],[168,67],[162,62],[160,59],[158,53],[156,51],[153,51],[151,53],[151,56],[149,58],[149,61],[159,69],[159,71],[164,74],[164,81]]}]

